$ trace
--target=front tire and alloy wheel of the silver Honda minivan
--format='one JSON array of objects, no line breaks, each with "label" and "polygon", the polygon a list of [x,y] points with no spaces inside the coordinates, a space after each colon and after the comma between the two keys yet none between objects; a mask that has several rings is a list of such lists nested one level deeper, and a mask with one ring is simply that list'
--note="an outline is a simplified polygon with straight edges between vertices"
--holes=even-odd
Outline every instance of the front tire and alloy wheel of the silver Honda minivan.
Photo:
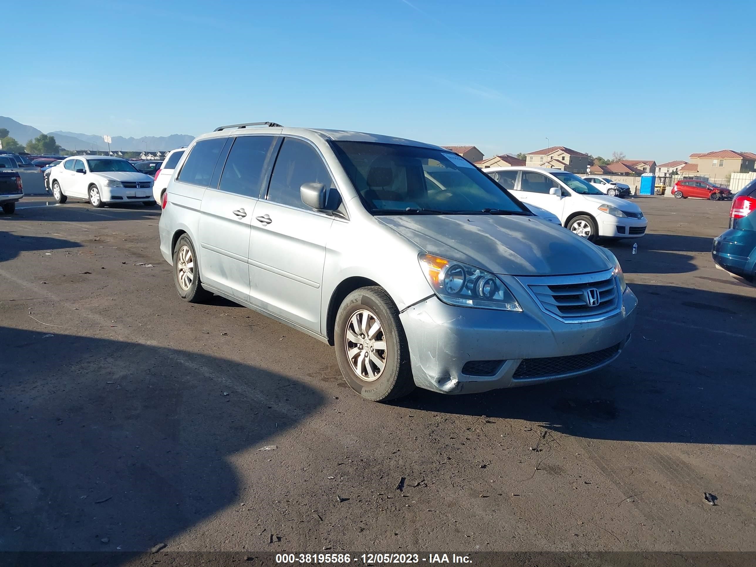
[{"label": "front tire and alloy wheel of the silver Honda minivan", "polygon": [[363,398],[389,401],[415,389],[407,336],[383,288],[362,287],[346,296],[336,313],[334,343],[344,380]]}]

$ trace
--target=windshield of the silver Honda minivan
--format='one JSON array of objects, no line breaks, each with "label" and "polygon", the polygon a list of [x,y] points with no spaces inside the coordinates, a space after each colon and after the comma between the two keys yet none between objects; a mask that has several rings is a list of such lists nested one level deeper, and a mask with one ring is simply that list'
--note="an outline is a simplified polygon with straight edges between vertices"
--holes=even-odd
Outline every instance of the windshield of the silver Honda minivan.
[{"label": "windshield of the silver Honda minivan", "polygon": [[531,215],[456,153],[361,141],[333,141],[331,145],[373,215]]}]

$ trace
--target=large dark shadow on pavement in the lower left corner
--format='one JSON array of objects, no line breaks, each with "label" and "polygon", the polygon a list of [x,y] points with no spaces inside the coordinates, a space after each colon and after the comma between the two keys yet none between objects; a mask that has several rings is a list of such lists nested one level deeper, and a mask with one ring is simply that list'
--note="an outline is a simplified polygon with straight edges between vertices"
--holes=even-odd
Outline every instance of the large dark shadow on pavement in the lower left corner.
[{"label": "large dark shadow on pavement in the lower left corner", "polygon": [[[276,409],[287,386],[301,393],[290,414],[323,403],[175,349],[8,327],[0,344],[0,551],[149,550],[237,500],[229,457],[296,425]],[[252,380],[256,395],[233,389]],[[268,453],[254,455],[269,474]]]}]

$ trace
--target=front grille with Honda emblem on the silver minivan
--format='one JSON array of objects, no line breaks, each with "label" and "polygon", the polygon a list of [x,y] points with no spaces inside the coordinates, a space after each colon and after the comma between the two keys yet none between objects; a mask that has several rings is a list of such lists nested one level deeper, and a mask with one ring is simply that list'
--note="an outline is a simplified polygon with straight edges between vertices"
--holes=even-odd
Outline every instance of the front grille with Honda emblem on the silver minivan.
[{"label": "front grille with Honda emblem on the silver minivan", "polygon": [[617,278],[612,271],[559,277],[524,277],[541,309],[566,322],[611,317],[620,308]]}]

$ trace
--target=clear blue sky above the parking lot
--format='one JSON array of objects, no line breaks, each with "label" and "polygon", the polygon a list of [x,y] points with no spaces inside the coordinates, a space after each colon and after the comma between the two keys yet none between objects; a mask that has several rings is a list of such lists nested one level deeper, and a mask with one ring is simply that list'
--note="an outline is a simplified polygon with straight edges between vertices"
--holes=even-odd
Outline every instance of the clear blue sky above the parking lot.
[{"label": "clear blue sky above the parking lot", "polygon": [[756,151],[752,0],[56,0],[3,12],[15,63],[0,115],[45,132],[199,135],[273,120],[487,156],[546,138],[658,163]]}]

